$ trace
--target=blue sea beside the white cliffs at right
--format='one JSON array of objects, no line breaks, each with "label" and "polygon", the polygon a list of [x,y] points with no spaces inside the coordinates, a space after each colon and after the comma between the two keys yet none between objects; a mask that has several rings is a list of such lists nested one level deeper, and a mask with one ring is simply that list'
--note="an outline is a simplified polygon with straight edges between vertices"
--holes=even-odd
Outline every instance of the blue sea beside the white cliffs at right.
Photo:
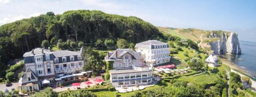
[{"label": "blue sea beside the white cliffs at right", "polygon": [[224,55],[229,61],[231,61],[238,68],[244,70],[244,72],[256,78],[256,43],[248,41],[240,41],[242,49],[241,55]]}]

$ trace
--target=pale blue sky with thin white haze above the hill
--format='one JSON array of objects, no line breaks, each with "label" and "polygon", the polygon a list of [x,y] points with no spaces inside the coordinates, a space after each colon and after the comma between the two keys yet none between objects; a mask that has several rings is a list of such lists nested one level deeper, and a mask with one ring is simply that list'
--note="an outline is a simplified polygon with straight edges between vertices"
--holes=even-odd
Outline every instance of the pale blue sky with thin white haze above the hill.
[{"label": "pale blue sky with thin white haze above the hill", "polygon": [[233,31],[239,40],[256,42],[256,1],[246,0],[0,0],[0,25],[82,9],[136,16],[155,26]]}]

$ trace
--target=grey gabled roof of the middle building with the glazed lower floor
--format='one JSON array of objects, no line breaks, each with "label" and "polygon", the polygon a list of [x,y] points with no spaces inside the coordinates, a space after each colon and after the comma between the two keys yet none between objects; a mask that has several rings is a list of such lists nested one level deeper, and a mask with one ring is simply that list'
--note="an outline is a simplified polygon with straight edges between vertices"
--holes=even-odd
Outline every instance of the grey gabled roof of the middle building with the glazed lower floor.
[{"label": "grey gabled roof of the middle building with the glazed lower floor", "polygon": [[[117,51],[117,57],[115,57]],[[137,52],[132,51],[131,49],[117,49],[114,52],[109,53],[109,59],[120,59],[125,53],[130,53],[135,59],[144,59]]]}]

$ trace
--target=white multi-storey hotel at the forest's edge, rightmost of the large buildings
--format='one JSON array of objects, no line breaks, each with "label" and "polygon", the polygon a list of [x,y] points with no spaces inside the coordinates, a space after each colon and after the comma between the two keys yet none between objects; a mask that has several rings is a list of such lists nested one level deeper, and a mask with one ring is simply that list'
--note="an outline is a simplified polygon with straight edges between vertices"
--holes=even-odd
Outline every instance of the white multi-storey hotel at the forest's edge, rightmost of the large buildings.
[{"label": "white multi-storey hotel at the forest's edge, rightmost of the large buildings", "polygon": [[135,48],[151,66],[170,61],[169,46],[166,43],[157,40],[149,40],[137,43]]}]

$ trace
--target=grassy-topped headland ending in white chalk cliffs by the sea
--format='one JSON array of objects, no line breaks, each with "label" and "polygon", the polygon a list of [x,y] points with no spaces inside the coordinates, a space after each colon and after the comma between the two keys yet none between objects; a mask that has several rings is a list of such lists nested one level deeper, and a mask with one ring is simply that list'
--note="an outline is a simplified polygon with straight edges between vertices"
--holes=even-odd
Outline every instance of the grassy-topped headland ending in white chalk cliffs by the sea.
[{"label": "grassy-topped headland ending in white chalk cliffs by the sea", "polygon": [[201,30],[195,28],[158,27],[164,34],[170,34],[198,43],[201,48],[215,54],[241,54],[238,34],[222,30]]}]

